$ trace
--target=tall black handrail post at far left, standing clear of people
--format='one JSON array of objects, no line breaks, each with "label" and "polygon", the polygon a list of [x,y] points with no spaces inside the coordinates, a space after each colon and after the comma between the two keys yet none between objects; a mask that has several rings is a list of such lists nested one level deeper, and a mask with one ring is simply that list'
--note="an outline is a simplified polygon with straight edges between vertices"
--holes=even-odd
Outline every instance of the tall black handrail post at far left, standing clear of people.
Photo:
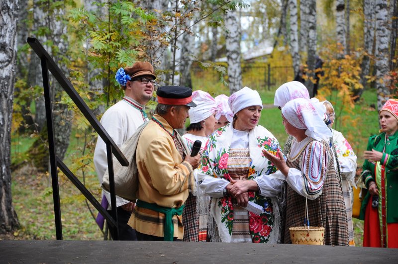
[{"label": "tall black handrail post at far left, standing clear of people", "polygon": [[50,94],[50,82],[48,79],[48,68],[45,57],[41,57],[41,71],[43,74],[43,89],[44,89],[44,102],[46,106],[46,117],[47,117],[47,134],[48,134],[48,148],[50,154],[50,171],[51,171],[51,183],[53,187],[53,199],[54,199],[54,218],[55,218],[55,232],[57,234],[57,240],[62,240],[62,222],[61,222],[61,206],[59,199],[59,188],[58,188],[58,170],[55,160],[55,143],[54,143],[54,127],[53,127],[53,113],[51,106],[51,94]]}]

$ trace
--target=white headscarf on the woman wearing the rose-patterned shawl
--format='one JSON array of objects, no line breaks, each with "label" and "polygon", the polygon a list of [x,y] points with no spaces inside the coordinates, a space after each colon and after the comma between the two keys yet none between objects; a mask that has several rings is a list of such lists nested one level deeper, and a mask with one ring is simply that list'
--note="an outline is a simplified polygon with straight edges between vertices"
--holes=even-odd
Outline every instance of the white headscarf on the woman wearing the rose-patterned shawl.
[{"label": "white headscarf on the woman wearing the rose-patterned shawl", "polygon": [[236,114],[243,108],[259,105],[263,109],[263,102],[261,101],[260,94],[256,90],[244,87],[237,92],[234,92],[228,98],[228,105],[232,112]]}]

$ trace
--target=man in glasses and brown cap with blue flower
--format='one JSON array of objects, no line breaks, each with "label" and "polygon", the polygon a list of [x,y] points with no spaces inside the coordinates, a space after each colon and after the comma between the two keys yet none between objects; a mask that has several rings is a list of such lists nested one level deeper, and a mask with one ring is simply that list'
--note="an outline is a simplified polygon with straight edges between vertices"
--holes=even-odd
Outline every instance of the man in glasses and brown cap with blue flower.
[{"label": "man in glasses and brown cap with blue flower", "polygon": [[[148,120],[145,104],[151,99],[156,86],[156,76],[149,62],[135,62],[133,66],[120,68],[115,76],[116,81],[124,90],[124,97],[102,115],[102,126],[120,148],[130,138],[137,128]],[[98,137],[94,152],[94,165],[100,183],[108,167],[106,144]],[[110,194],[103,191],[102,205],[110,212]],[[135,206],[121,197],[116,196],[117,217],[120,240],[137,240],[135,230],[127,225]],[[103,228],[103,218],[97,218],[97,223]]]}]

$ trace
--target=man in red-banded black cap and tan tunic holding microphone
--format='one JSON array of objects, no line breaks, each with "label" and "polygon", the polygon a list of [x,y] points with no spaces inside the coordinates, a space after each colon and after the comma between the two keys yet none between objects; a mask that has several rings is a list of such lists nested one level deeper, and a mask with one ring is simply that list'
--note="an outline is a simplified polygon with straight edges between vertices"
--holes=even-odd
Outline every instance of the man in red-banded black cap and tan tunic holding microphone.
[{"label": "man in red-banded black cap and tan tunic holding microphone", "polygon": [[189,189],[195,190],[193,170],[199,165],[176,129],[184,128],[195,107],[187,87],[160,87],[156,114],[142,130],[135,152],[138,170],[137,206],[128,224],[138,240],[182,240],[182,212]]}]

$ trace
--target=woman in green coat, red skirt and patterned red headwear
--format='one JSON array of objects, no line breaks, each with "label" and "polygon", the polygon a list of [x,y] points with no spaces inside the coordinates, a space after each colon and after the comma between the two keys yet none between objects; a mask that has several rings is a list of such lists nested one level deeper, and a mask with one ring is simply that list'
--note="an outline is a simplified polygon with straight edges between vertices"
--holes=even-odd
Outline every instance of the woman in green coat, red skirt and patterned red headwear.
[{"label": "woman in green coat, red skirt and patterned red headwear", "polygon": [[368,193],[362,201],[364,247],[398,248],[398,99],[379,111],[380,134],[369,138],[362,179]]}]

